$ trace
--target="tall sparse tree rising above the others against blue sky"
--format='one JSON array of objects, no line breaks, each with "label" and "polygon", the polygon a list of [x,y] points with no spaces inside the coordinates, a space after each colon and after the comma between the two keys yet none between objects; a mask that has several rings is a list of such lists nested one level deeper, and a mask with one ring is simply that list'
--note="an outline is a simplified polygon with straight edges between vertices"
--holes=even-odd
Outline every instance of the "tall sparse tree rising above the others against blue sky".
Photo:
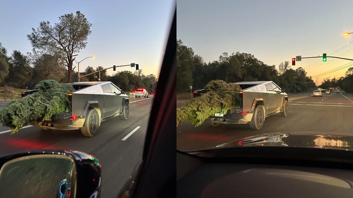
[{"label": "tall sparse tree rising above the others against blue sky", "polygon": [[67,82],[71,82],[72,63],[75,60],[72,55],[86,47],[91,26],[84,14],[77,11],[76,15],[71,13],[59,17],[59,23],[54,26],[49,21],[40,22],[39,27],[32,28],[32,33],[27,37],[34,50],[45,54],[54,52],[65,60],[68,69]]}]

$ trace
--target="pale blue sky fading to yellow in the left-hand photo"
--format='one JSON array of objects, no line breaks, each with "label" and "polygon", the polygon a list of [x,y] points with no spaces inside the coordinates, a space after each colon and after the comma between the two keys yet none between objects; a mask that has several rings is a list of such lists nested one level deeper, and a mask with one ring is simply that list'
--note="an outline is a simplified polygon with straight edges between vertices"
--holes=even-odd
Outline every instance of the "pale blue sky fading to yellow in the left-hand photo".
[{"label": "pale blue sky fading to yellow in the left-hand photo", "polygon": [[[13,50],[26,54],[32,51],[27,38],[32,28],[36,29],[41,21],[57,23],[60,16],[80,11],[92,23],[92,33],[86,48],[77,53],[76,61],[95,56],[80,63],[80,72],[88,66],[108,68],[136,63],[145,75],[158,78],[173,6],[173,0],[2,1],[0,42],[8,55]],[[135,68],[120,67],[116,72],[122,70],[134,72]],[[108,74],[112,75],[113,69],[108,69]]]}]

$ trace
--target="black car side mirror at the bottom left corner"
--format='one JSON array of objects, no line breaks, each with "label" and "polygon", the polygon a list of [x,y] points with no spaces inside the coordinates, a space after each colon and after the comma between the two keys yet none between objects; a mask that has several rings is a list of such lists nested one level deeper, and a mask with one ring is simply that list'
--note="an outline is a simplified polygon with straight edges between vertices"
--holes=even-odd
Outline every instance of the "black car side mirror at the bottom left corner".
[{"label": "black car side mirror at the bottom left corner", "polygon": [[99,197],[101,165],[79,151],[27,151],[0,158],[4,197]]}]

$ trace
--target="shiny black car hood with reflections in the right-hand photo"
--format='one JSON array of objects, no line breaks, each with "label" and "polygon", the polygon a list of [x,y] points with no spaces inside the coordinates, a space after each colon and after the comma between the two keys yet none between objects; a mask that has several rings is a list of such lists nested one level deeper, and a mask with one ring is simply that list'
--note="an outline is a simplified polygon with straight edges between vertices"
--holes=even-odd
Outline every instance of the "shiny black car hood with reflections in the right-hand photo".
[{"label": "shiny black car hood with reflections in the right-hand photo", "polygon": [[353,135],[348,133],[329,132],[276,132],[242,138],[240,140],[221,144],[216,148],[234,147],[307,147],[323,149],[353,150]]}]

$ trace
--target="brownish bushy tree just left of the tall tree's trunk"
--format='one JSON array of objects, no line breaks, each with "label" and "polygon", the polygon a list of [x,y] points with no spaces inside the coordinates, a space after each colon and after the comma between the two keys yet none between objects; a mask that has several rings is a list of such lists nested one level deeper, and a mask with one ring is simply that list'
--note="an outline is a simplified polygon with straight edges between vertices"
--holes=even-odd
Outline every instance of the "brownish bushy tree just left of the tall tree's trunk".
[{"label": "brownish bushy tree just left of the tall tree's trunk", "polygon": [[42,80],[56,80],[60,82],[65,77],[65,67],[59,65],[58,57],[53,55],[43,54],[33,62],[32,81],[34,85]]}]

